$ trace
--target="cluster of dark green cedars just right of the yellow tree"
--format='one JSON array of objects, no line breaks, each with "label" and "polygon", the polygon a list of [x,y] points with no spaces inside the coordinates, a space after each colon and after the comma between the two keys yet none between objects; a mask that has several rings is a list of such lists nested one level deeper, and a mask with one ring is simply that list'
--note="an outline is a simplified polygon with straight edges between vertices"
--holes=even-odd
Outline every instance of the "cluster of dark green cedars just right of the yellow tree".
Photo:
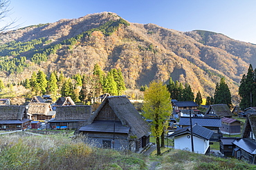
[{"label": "cluster of dark green cedars just right of the yellow tree", "polygon": [[178,101],[194,101],[194,93],[188,83],[185,83],[185,87],[183,87],[182,83],[179,83],[179,81],[174,83],[174,81],[172,81],[172,77],[170,77],[167,89],[170,92],[170,97],[172,99],[176,99]]}]

